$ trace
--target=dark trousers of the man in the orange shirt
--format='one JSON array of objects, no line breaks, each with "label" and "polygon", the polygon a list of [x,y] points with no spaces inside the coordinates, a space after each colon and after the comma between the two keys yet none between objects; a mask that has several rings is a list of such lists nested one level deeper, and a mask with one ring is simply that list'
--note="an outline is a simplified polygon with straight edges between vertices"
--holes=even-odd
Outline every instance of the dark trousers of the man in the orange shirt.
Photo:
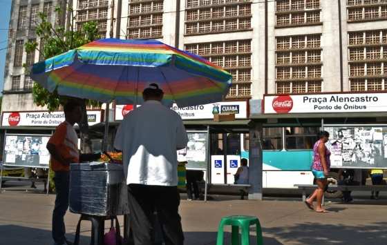
[{"label": "dark trousers of the man in the orange shirt", "polygon": [[68,208],[68,188],[70,175],[68,172],[55,172],[54,182],[57,197],[53,211],[53,239],[57,244],[66,241],[66,228],[64,227],[64,215]]}]

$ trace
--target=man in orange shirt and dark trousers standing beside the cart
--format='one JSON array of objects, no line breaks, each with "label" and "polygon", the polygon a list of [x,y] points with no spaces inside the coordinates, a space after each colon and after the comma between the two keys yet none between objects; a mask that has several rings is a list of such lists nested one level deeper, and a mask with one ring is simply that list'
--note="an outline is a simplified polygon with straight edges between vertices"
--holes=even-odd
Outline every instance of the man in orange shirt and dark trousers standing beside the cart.
[{"label": "man in orange shirt and dark trousers standing beside the cart", "polygon": [[51,155],[51,168],[55,172],[57,197],[53,211],[53,239],[56,245],[71,244],[65,237],[64,215],[68,209],[70,164],[79,162],[78,137],[73,128],[82,119],[79,104],[69,101],[64,106],[64,117],[66,120],[57,126],[46,146]]}]

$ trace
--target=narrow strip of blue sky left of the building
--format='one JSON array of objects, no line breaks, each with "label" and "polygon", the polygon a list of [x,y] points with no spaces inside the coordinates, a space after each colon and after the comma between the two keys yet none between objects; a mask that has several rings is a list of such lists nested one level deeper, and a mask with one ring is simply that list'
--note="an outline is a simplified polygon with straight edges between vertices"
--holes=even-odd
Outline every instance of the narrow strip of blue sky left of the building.
[{"label": "narrow strip of blue sky left of the building", "polygon": [[0,91],[3,90],[4,67],[6,66],[8,24],[12,0],[0,0]]}]

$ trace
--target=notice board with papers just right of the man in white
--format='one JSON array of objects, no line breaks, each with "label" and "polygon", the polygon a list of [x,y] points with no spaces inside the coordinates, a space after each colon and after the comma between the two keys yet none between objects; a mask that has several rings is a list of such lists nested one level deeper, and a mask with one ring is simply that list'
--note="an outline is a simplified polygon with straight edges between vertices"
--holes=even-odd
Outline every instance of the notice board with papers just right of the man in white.
[{"label": "notice board with papers just right of the man in white", "polygon": [[178,150],[178,161],[187,161],[187,169],[207,169],[206,131],[189,131],[187,148]]}]

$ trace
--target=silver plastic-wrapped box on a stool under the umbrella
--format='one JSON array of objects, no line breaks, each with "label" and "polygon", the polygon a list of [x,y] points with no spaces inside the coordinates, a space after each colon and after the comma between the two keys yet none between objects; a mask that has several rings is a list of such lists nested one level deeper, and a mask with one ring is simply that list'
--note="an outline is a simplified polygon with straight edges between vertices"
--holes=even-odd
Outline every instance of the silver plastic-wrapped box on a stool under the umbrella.
[{"label": "silver plastic-wrapped box on a stool under the umbrella", "polygon": [[71,164],[70,211],[115,216],[129,213],[121,164]]}]

